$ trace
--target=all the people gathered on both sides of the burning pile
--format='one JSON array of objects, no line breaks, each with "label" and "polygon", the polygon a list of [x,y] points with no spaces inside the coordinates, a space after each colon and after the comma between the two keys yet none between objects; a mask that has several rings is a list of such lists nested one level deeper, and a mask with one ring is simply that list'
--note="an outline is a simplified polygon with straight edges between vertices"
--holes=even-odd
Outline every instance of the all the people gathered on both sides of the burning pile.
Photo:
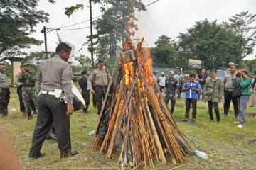
[{"label": "all the people gathered on both sides of the burning pile", "polygon": [[[32,112],[38,114],[36,125],[33,131],[32,145],[28,157],[40,158],[45,154],[41,153],[43,142],[52,138],[57,140],[60,149],[60,157],[70,157],[78,154],[78,151],[71,150],[70,140],[70,115],[74,111],[73,92],[71,81],[71,66],[68,62],[71,47],[60,43],[56,47],[55,55],[50,59],[43,60],[38,67],[38,75],[31,70],[31,64],[25,62],[21,65],[21,72],[16,75],[14,84],[17,86],[17,93],[20,101],[20,111],[33,119]],[[174,113],[176,100],[181,98],[181,91],[185,91],[185,117],[183,121],[189,120],[189,112],[192,106],[192,122],[196,122],[197,102],[202,98],[208,103],[210,121],[214,121],[213,108],[216,120],[220,123],[219,103],[224,95],[224,115],[228,115],[230,102],[233,102],[235,118],[238,118],[238,128],[245,125],[245,114],[247,103],[252,97],[251,105],[254,105],[256,85],[254,81],[251,92],[251,77],[245,69],[239,69],[237,65],[230,62],[230,73],[225,75],[222,81],[217,77],[217,70],[210,69],[210,78],[206,77],[206,70],[202,69],[200,74],[191,73],[186,80],[181,71],[174,74],[169,72],[166,78],[164,72],[159,77],[159,89],[164,95],[166,104],[171,101],[170,113]],[[0,113],[8,115],[8,104],[10,99],[9,82],[4,74],[6,68],[0,64]],[[82,97],[86,107],[83,113],[88,113],[90,105],[90,93],[93,94],[93,103],[97,101],[97,114],[100,115],[102,102],[105,98],[107,86],[110,82],[110,72],[105,68],[105,62],[98,60],[97,68],[92,72],[83,70],[79,86],[82,89]],[[255,71],[256,74],[256,71]],[[39,93],[36,93],[36,82]],[[233,92],[240,86],[240,96],[234,97]]]}]

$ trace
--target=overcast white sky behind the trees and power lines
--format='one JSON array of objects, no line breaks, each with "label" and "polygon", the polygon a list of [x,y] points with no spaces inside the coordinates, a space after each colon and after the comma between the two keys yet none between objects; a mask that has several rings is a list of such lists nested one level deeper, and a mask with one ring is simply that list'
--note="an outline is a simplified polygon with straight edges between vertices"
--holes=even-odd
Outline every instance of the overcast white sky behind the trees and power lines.
[{"label": "overcast white sky behind the trees and power lines", "polygon": [[[155,0],[144,0],[144,4],[150,4]],[[75,26],[60,28],[58,31],[61,38],[75,45],[75,52],[80,50],[78,54],[90,56],[87,52],[87,45],[82,46],[82,43],[87,40],[87,35],[90,35],[90,28],[81,30],[68,30],[74,28],[82,28],[90,26],[90,10],[84,8],[73,13],[70,18],[65,16],[65,7],[74,6],[75,4],[89,5],[86,0],[56,0],[55,4],[50,4],[46,0],[39,1],[38,9],[41,9],[50,14],[49,22],[38,24],[36,33],[33,37],[39,40],[43,39],[43,33],[40,30],[43,26],[46,28],[60,28],[63,26],[72,25],[86,21]],[[218,23],[228,21],[228,18],[242,11],[250,11],[256,13],[255,0],[159,0],[156,3],[148,6],[147,11],[137,13],[137,26],[139,28],[135,38],[146,40],[149,47],[154,47],[154,42],[160,35],[168,35],[171,38],[176,38],[179,33],[186,33],[188,28],[191,28],[196,21],[208,18],[209,21],[217,20]],[[92,5],[92,18],[101,16],[100,5]],[[256,23],[255,23],[256,24]],[[94,33],[96,30],[94,30]],[[58,42],[55,31],[47,33],[48,51],[55,51],[56,42]],[[41,46],[31,47],[26,52],[44,50],[44,44]],[[256,50],[253,55],[246,59],[255,59]]]}]

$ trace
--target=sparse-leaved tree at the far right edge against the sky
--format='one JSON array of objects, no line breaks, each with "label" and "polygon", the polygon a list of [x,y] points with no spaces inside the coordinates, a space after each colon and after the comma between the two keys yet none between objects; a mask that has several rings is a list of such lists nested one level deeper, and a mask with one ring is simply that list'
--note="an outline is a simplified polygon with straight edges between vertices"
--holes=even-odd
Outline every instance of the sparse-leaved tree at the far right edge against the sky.
[{"label": "sparse-leaved tree at the far right edge against the sky", "polygon": [[255,18],[256,14],[252,15],[249,11],[246,11],[229,18],[230,23],[223,23],[245,40],[245,45],[242,46],[242,58],[252,54],[256,45]]}]

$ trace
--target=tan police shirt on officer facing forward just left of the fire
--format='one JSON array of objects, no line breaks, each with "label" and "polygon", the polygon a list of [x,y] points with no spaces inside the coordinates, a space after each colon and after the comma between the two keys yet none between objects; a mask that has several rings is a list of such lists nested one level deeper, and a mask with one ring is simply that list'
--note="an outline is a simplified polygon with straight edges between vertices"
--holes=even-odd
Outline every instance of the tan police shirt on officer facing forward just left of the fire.
[{"label": "tan police shirt on officer facing forward just left of the fire", "polygon": [[94,80],[96,86],[107,86],[110,80],[110,72],[107,69],[94,69],[87,81],[88,90],[92,90],[92,81]]}]

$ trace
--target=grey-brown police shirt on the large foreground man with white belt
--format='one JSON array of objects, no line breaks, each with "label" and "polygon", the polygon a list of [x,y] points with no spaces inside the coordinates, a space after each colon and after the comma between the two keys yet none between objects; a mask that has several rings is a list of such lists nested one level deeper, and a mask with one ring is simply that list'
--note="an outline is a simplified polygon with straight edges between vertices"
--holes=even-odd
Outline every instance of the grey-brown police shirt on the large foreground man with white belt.
[{"label": "grey-brown police shirt on the large foreground man with white belt", "polygon": [[42,90],[63,89],[65,102],[72,102],[71,67],[59,55],[43,60],[38,68],[38,86]]}]

